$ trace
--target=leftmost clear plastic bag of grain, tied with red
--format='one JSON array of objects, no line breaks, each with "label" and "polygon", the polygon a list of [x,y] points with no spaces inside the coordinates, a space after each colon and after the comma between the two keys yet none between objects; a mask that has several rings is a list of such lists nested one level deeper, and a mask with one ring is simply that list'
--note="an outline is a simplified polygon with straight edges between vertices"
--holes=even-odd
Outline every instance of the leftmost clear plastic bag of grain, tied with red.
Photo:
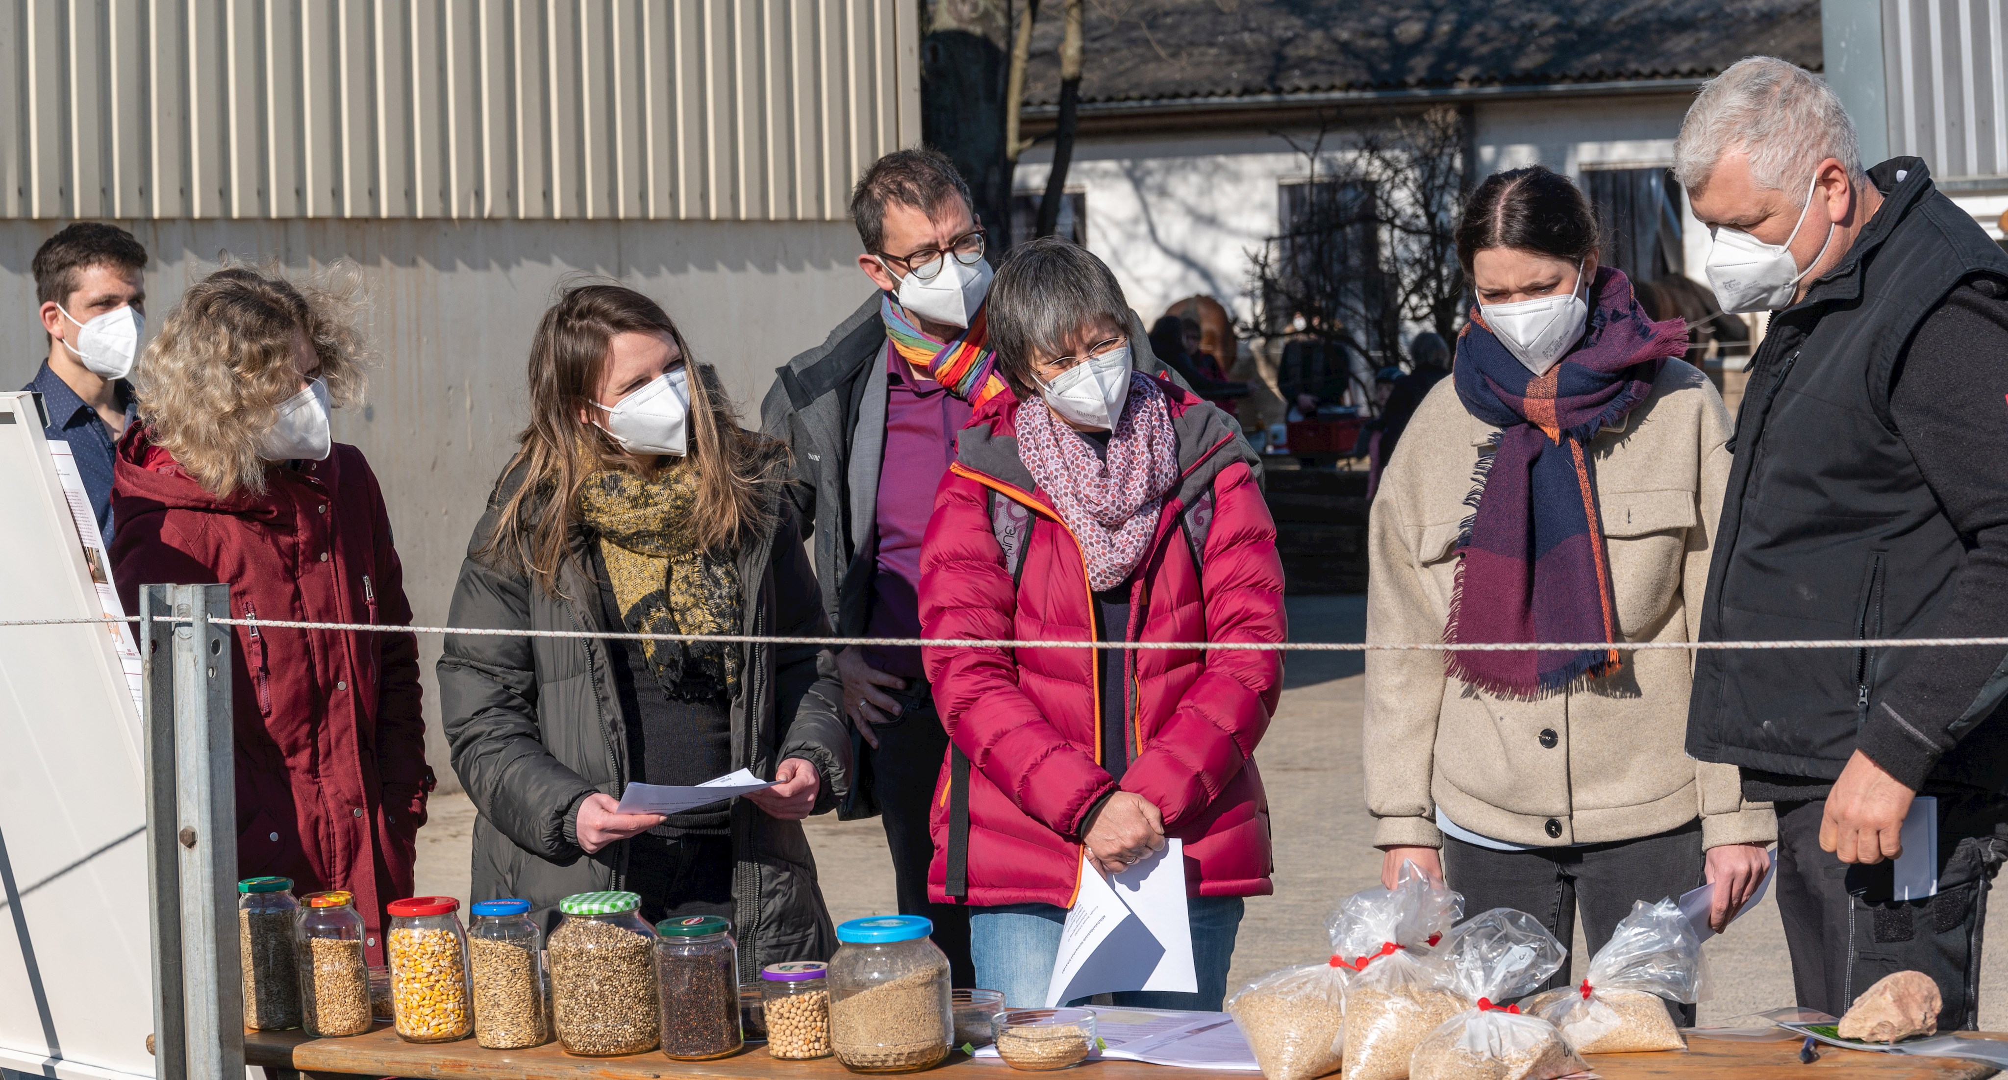
[{"label": "leftmost clear plastic bag of grain, tied with red", "polygon": [[[1345,923],[1345,911],[1359,903],[1396,909],[1371,954],[1341,943],[1337,933]],[[1394,889],[1357,893],[1325,919],[1331,931],[1331,960],[1271,972],[1235,994],[1227,1002],[1227,1014],[1247,1038],[1263,1076],[1311,1080],[1339,1068],[1345,984],[1355,972],[1388,964],[1404,946],[1428,948],[1426,941],[1458,919],[1462,905],[1458,893],[1432,885],[1414,863],[1404,863]]]}]

